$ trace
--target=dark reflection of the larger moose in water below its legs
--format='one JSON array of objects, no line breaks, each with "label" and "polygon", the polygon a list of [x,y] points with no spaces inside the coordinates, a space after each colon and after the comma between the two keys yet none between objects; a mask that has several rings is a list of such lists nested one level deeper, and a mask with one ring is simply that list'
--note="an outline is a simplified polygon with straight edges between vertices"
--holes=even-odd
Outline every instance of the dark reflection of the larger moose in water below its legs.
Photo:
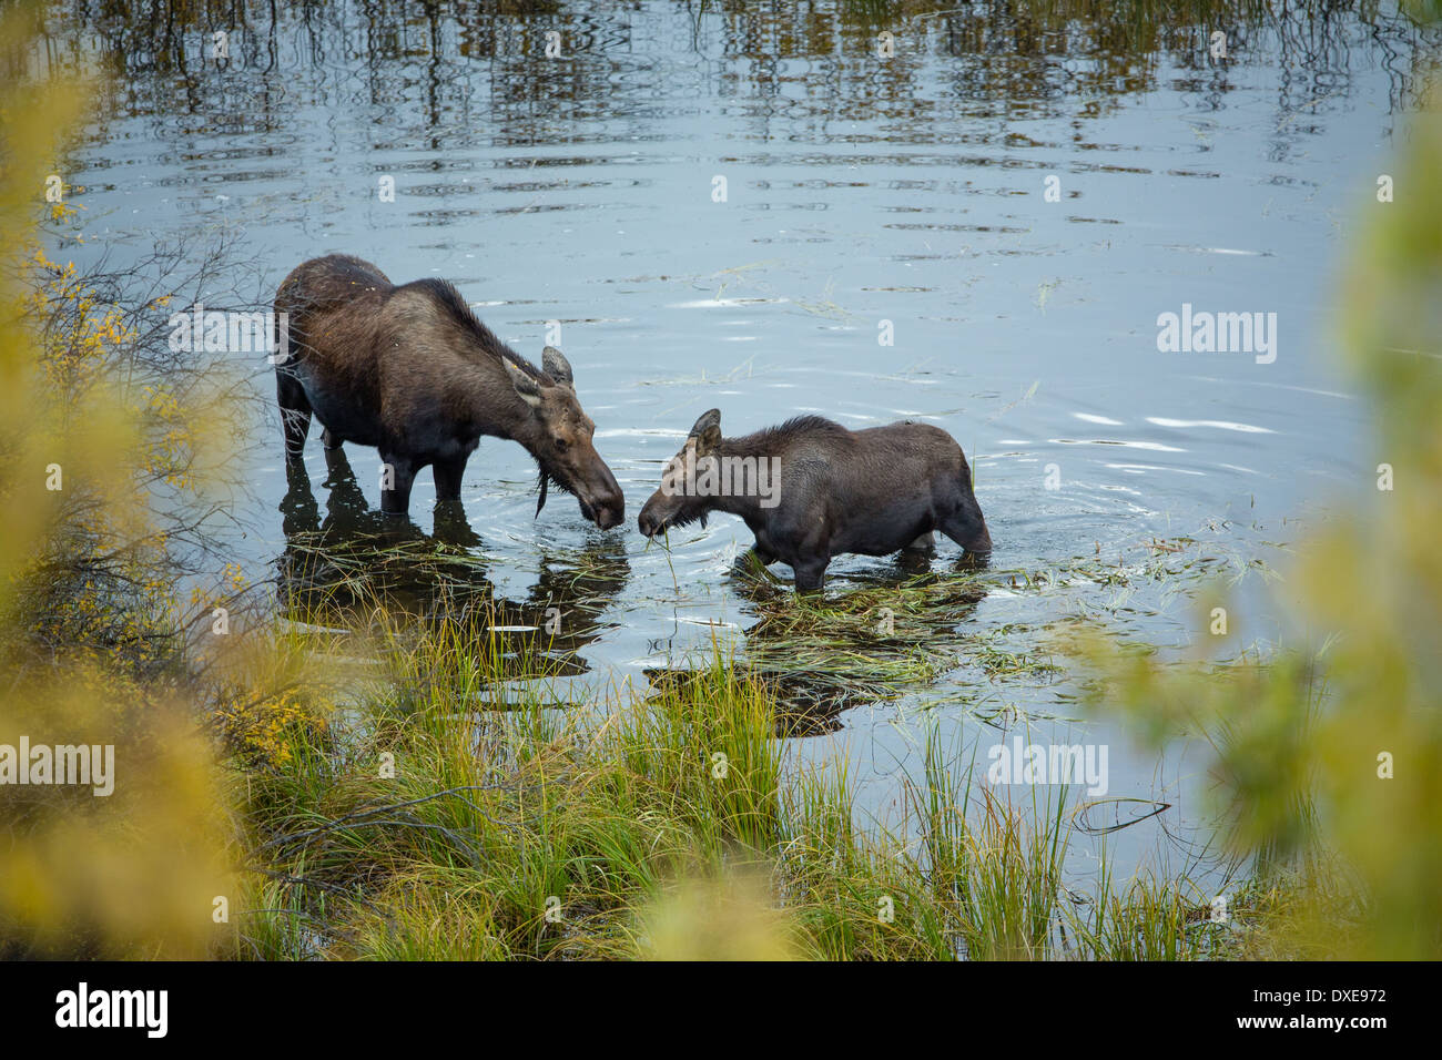
[{"label": "dark reflection of the larger moose in water below its legs", "polygon": [[459,500],[437,503],[435,532],[427,535],[410,519],[371,508],[343,450],[326,450],[324,457],[324,513],[300,461],[280,503],[283,617],[350,629],[384,604],[405,622],[460,620],[479,643],[515,663],[508,672],[577,676],[590,669],[580,652],[610,627],[601,614],[630,575],[619,538],[597,538],[564,558],[542,554],[526,599],[508,600],[474,551],[482,542]]}]

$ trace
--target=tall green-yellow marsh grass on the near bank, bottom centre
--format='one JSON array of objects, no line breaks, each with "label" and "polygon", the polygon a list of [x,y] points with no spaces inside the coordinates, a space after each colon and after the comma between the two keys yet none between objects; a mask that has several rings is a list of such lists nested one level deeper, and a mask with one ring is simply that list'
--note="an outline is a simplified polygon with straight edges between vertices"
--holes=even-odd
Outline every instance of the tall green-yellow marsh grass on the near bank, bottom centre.
[{"label": "tall green-yellow marsh grass on the near bank, bottom centre", "polygon": [[[901,819],[871,821],[846,757],[795,760],[774,679],[728,646],[571,704],[483,614],[375,611],[345,705],[235,770],[236,956],[1045,959],[1102,937],[1063,900],[1063,789],[1004,800],[929,737]],[[500,685],[506,710],[483,705]]]}]

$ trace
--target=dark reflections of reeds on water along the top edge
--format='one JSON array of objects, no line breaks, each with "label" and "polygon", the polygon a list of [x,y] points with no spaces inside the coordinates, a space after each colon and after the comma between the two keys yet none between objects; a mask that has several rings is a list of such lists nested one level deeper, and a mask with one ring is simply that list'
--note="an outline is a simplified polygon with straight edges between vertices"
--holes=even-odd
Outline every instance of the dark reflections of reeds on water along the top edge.
[{"label": "dark reflections of reeds on water along the top edge", "polygon": [[[609,141],[616,137],[607,121],[684,110],[695,98],[696,72],[671,91],[653,89],[698,62],[701,78],[743,118],[870,112],[888,121],[880,136],[848,137],[857,144],[985,143],[991,130],[956,136],[924,123],[966,102],[1037,117],[1048,105],[1084,101],[1082,112],[1096,117],[1120,97],[1168,82],[1195,94],[1198,110],[1217,110],[1239,88],[1239,71],[1259,62],[1282,71],[1278,112],[1345,94],[1358,68],[1373,65],[1386,74],[1387,102],[1400,105],[1415,89],[1412,59],[1428,42],[1396,4],[1262,0],[249,0],[224,13],[186,0],[110,0],[56,4],[52,22],[61,39],[78,35],[85,50],[125,75],[112,104],[130,115],[225,108],[231,133],[293,133],[290,115],[311,102],[306,91],[287,91],[297,68],[349,81],[348,95],[368,110],[414,102],[411,114],[388,114],[392,121],[372,137],[378,150],[402,137],[434,150]],[[212,58],[216,30],[226,33],[221,61]],[[559,56],[548,53],[548,45],[557,48],[547,37],[552,32]],[[894,43],[878,62],[883,32]],[[1217,32],[1226,33],[1224,58],[1213,53]],[[66,55],[56,49],[52,58]],[[940,65],[933,84],[934,59],[955,62]],[[647,105],[637,105],[636,89],[652,89]],[[469,137],[459,117],[477,118]],[[1012,136],[1015,146],[1035,146]],[[232,159],[274,157],[273,147],[251,144]],[[522,182],[513,190],[539,186]],[[417,189],[437,198],[446,190],[446,182]]]}]

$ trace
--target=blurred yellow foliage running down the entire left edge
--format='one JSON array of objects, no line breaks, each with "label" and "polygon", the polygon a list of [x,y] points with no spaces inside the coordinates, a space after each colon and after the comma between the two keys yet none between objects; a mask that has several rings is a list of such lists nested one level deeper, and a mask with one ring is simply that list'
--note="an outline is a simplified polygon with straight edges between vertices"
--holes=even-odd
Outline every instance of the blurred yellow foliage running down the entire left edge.
[{"label": "blurred yellow foliage running down the entire left edge", "polygon": [[39,251],[88,92],[26,69],[33,14],[0,19],[0,744],[112,744],[115,774],[107,796],[0,787],[0,955],[199,956],[228,893],[222,803],[186,704],[141,676],[173,642],[144,482],[189,417],[123,385],[123,322]]}]

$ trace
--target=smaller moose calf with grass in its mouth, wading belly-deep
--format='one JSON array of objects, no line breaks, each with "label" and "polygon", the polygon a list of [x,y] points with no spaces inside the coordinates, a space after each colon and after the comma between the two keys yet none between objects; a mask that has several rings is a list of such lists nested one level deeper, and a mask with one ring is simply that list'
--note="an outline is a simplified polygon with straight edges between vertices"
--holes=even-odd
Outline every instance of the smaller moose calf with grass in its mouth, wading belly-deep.
[{"label": "smaller moose calf with grass in its mouth, wading belly-deep", "polygon": [[816,415],[744,438],[721,437],[721,412],[705,412],[640,512],[655,536],[709,512],[746,519],[753,554],[796,571],[797,590],[820,588],[833,555],[930,549],[942,531],[968,552],[991,535],[972,493],[962,447],[927,424],[849,431]]}]

